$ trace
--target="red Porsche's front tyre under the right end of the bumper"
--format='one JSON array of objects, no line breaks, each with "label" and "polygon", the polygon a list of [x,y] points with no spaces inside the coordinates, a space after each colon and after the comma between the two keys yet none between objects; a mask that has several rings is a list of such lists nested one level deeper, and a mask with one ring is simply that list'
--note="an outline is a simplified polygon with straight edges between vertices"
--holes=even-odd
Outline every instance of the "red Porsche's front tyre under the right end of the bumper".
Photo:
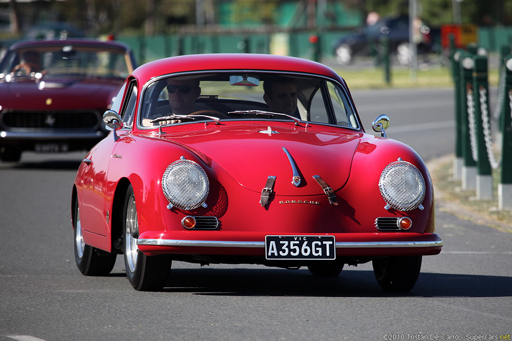
[{"label": "red Porsche's front tyre under the right end of the bumper", "polygon": [[385,291],[411,291],[421,269],[421,256],[388,257],[372,261],[373,273]]}]

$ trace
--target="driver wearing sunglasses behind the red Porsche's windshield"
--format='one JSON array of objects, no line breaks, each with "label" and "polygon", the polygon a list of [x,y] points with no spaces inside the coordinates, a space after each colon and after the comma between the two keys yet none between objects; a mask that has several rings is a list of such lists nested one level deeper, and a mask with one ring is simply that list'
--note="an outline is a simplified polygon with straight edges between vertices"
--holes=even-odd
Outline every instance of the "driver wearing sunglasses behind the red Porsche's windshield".
[{"label": "driver wearing sunglasses behind the red Porsche's windshield", "polygon": [[[190,115],[195,112],[196,100],[201,95],[199,79],[167,79],[167,93],[169,94],[170,115]],[[152,125],[154,118],[143,119],[145,126]],[[180,123],[181,120],[160,121],[159,124]]]}]

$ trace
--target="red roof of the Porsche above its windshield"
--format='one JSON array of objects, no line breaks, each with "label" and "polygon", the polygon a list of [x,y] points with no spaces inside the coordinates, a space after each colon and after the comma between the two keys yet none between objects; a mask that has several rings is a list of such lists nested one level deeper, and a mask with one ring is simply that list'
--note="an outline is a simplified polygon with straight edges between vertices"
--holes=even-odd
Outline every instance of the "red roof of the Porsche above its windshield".
[{"label": "red roof of the Porsche above its windshield", "polygon": [[329,67],[302,58],[276,56],[266,54],[200,54],[169,57],[145,63],[133,72],[133,76],[142,84],[148,80],[172,73],[184,73],[193,71],[275,71],[298,72],[326,76],[345,82],[337,73]]}]

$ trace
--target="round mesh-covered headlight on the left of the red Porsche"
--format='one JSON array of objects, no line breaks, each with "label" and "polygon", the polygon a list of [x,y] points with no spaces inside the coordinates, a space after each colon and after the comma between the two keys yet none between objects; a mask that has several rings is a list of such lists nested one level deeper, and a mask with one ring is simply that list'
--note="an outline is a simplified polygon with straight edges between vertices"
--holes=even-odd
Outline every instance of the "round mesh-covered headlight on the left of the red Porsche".
[{"label": "round mesh-covered headlight on the left of the red Porsche", "polygon": [[209,188],[206,172],[194,161],[175,161],[163,173],[162,190],[165,197],[182,210],[194,210],[201,206]]}]

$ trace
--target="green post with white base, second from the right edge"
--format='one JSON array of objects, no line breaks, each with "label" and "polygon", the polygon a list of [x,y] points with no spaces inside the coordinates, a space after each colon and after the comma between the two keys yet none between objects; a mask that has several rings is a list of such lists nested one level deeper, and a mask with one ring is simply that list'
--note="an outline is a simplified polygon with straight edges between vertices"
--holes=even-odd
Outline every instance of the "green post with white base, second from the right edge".
[{"label": "green post with white base, second from the right edge", "polygon": [[[475,67],[473,73],[473,96],[475,103],[475,128],[477,139],[477,169],[476,190],[477,199],[493,198],[493,176],[490,167],[489,155],[485,145],[485,124],[488,124],[487,138],[490,139],[490,113],[489,113],[489,82],[487,71],[487,56],[475,56]],[[486,106],[482,107],[482,103]]]}]

